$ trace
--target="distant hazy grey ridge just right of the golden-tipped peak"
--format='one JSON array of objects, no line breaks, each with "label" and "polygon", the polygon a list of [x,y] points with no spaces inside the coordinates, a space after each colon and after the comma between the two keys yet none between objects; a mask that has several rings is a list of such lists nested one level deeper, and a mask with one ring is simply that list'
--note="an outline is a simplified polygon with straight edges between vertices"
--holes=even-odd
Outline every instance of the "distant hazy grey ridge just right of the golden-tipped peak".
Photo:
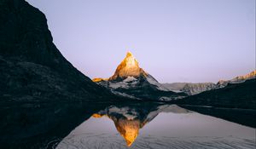
[{"label": "distant hazy grey ridge just right of the golden-tipped peak", "polygon": [[163,85],[175,92],[184,92],[187,95],[196,95],[201,92],[215,89],[215,83],[163,83]]}]

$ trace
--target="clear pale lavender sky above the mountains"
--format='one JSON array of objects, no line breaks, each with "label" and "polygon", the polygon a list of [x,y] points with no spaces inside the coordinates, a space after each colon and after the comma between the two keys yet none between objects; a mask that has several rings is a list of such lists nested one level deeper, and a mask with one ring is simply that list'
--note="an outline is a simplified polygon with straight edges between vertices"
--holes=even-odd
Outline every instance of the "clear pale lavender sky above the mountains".
[{"label": "clear pale lavender sky above the mountains", "polygon": [[111,77],[127,51],[160,83],[217,83],[255,69],[255,0],[26,0],[84,75]]}]

